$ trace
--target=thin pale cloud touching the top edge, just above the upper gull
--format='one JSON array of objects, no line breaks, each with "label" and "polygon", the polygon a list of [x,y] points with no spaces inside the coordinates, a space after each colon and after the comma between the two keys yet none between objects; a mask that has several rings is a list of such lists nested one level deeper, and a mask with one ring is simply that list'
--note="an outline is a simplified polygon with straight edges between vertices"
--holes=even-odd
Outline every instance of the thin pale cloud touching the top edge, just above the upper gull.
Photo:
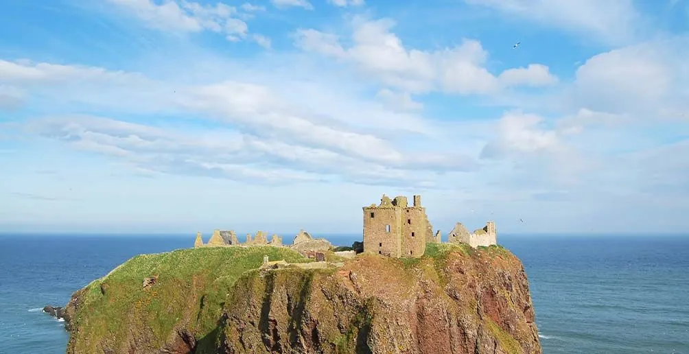
[{"label": "thin pale cloud touching the top edge, just above the upper gull", "polygon": [[632,0],[464,0],[606,43],[632,41],[641,16]]}]

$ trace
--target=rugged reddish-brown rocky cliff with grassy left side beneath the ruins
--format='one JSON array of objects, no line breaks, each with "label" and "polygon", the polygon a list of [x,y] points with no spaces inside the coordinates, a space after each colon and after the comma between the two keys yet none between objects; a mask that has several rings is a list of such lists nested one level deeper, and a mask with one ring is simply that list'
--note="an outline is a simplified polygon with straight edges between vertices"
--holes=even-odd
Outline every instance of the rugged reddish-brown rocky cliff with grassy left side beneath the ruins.
[{"label": "rugged reddish-brown rocky cliff with grassy left side beneath the ruins", "polygon": [[[360,255],[340,268],[254,269],[225,282],[224,296],[209,295],[223,275],[210,283],[192,277],[158,313],[134,307],[114,322],[99,315],[130,300],[98,300],[91,288],[108,278],[68,304],[68,353],[542,353],[526,274],[501,247],[429,244],[422,258]],[[158,279],[141,290],[144,299],[163,291],[165,277]],[[176,320],[146,320],[156,316]]]}]

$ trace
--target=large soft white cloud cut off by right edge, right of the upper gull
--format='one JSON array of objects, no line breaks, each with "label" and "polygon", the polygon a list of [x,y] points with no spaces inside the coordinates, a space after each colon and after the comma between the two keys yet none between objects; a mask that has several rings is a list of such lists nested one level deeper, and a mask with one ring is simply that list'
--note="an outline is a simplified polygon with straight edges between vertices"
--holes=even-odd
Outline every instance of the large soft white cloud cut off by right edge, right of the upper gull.
[{"label": "large soft white cloud cut off by right edge, right of the upper gull", "polygon": [[687,45],[689,37],[674,37],[593,56],[568,93],[594,110],[677,118],[689,108]]}]

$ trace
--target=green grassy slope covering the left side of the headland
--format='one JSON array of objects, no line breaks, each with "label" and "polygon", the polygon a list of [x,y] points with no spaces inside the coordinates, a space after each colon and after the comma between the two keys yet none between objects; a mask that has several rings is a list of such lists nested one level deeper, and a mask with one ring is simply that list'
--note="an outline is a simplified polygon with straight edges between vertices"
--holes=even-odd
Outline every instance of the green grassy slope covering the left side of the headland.
[{"label": "green grassy slope covering the left side of the headland", "polygon": [[[214,331],[234,282],[270,260],[308,262],[282,247],[202,247],[136,256],[88,285],[76,314],[84,353],[96,352],[98,341],[125,342],[130,328],[150,329],[153,344],[162,346],[176,326],[204,337]],[[143,289],[144,278],[158,276]],[[105,284],[105,294],[101,292]]]}]

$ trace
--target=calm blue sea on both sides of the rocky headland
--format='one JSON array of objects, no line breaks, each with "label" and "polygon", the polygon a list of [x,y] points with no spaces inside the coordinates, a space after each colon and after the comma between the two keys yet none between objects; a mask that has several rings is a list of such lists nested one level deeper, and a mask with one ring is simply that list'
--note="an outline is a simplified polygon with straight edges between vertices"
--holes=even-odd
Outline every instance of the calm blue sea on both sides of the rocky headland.
[{"label": "calm blue sea on both sides of the rocky headland", "polygon": [[[322,237],[322,235],[320,235]],[[348,245],[360,235],[325,235]],[[689,354],[689,235],[499,235],[526,269],[543,353]],[[65,353],[41,312],[140,253],[194,235],[0,234],[0,353]]]}]

